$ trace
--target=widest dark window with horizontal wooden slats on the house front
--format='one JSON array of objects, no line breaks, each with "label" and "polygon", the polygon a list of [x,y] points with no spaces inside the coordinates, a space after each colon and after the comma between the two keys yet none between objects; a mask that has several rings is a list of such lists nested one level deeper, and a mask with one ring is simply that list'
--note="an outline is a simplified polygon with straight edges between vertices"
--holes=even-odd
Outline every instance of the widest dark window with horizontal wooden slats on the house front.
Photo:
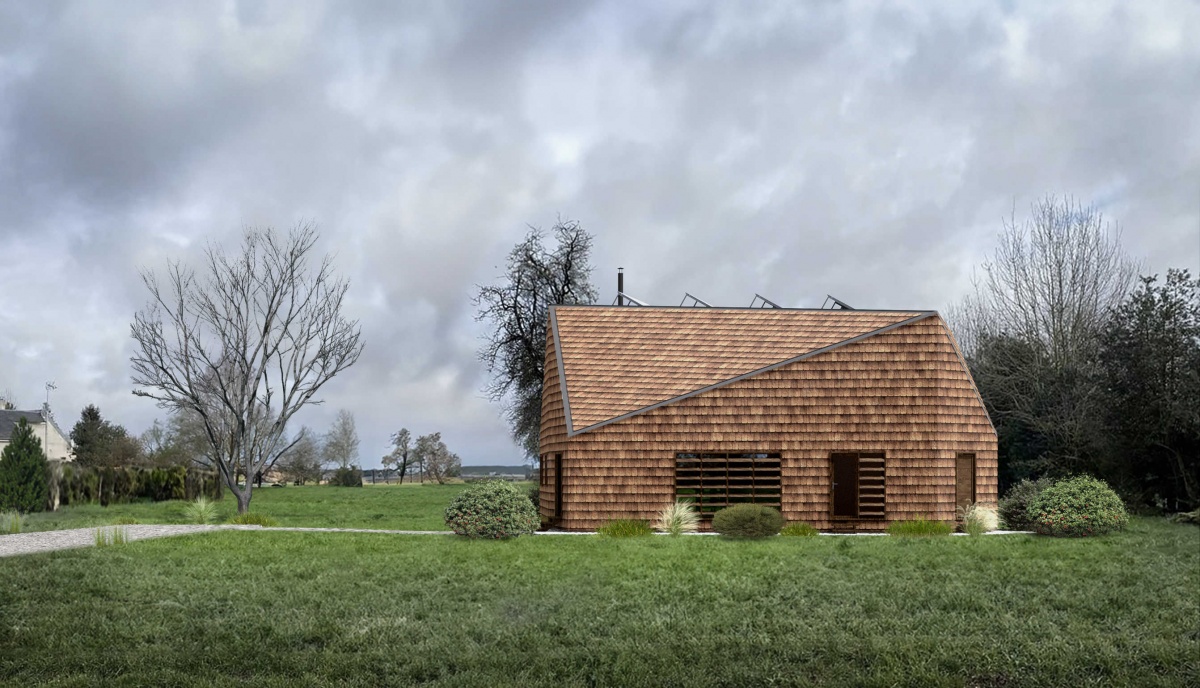
[{"label": "widest dark window with horizontal wooden slats on the house front", "polygon": [[780,493],[779,454],[676,454],[676,498],[691,502],[704,520],[732,504],[778,509]]}]

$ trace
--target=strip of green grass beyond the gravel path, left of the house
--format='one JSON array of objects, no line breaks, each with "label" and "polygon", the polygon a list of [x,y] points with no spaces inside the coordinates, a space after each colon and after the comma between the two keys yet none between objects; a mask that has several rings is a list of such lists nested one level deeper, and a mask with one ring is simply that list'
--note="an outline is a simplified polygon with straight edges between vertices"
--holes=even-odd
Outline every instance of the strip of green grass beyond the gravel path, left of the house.
[{"label": "strip of green grass beyond the gravel path, left of the house", "polygon": [[[524,487],[527,484],[520,484]],[[380,528],[400,531],[444,531],[442,513],[466,485],[415,484],[331,487],[329,485],[260,487],[250,501],[250,510],[276,519],[281,526],[323,528]],[[82,504],[58,511],[30,514],[25,531],[60,531],[108,526],[124,519],[139,524],[185,524],[186,502],[142,502],[134,504]],[[220,521],[238,513],[238,502],[226,491],[217,502]]]}]

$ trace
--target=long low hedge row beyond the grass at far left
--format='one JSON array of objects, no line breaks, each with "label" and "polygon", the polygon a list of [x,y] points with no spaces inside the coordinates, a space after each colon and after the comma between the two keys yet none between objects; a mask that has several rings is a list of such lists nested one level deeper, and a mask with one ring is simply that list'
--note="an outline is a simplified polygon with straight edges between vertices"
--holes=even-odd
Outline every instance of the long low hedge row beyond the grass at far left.
[{"label": "long low hedge row beyond the grass at far left", "polygon": [[170,466],[143,467],[84,467],[62,463],[52,471],[50,495],[58,493],[60,504],[120,504],[138,499],[164,502],[194,499],[199,496],[220,499],[221,478],[210,471]]}]

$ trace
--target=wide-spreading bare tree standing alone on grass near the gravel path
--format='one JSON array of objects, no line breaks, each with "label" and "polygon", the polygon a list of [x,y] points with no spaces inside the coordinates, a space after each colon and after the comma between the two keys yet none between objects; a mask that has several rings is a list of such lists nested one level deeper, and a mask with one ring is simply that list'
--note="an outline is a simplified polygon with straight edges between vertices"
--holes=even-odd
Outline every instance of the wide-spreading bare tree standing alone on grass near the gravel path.
[{"label": "wide-spreading bare tree standing alone on grass near the gravel path", "polygon": [[151,299],[131,327],[133,394],[199,417],[239,513],[252,478],[296,442],[283,438],[292,417],[362,353],[342,316],[347,282],[328,256],[310,264],[317,238],[310,225],[247,229],[238,253],[208,247],[203,280],[178,261],[164,282],[142,273]]}]

